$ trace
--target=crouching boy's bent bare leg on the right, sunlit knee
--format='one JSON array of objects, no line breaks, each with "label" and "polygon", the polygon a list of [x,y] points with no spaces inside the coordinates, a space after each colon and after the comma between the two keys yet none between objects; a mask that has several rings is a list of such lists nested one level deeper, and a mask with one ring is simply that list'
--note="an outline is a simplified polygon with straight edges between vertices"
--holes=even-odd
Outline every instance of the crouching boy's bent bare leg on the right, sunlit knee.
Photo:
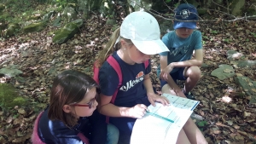
[{"label": "crouching boy's bent bare leg on the right, sunlit knee", "polygon": [[184,92],[189,93],[201,78],[201,70],[198,66],[186,67],[183,75],[187,78],[184,86]]}]

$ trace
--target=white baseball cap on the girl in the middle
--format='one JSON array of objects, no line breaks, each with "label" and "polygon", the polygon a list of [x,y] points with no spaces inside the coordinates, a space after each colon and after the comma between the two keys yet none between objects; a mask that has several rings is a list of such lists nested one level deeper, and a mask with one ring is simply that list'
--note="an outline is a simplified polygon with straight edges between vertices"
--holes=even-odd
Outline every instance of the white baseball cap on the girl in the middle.
[{"label": "white baseball cap on the girl in the middle", "polygon": [[146,55],[169,51],[166,44],[160,40],[157,20],[147,12],[137,11],[127,15],[120,27],[120,36],[131,39],[137,49]]}]

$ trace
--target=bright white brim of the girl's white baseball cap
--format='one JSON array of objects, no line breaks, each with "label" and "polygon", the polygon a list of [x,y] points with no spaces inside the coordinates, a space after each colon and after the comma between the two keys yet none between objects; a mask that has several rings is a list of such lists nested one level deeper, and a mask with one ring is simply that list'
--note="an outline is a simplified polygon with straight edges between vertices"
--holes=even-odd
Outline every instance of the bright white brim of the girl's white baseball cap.
[{"label": "bright white brim of the girl's white baseball cap", "polygon": [[155,55],[169,51],[169,49],[166,47],[166,44],[163,43],[160,39],[151,41],[131,40],[131,42],[137,47],[137,49],[146,55]]}]

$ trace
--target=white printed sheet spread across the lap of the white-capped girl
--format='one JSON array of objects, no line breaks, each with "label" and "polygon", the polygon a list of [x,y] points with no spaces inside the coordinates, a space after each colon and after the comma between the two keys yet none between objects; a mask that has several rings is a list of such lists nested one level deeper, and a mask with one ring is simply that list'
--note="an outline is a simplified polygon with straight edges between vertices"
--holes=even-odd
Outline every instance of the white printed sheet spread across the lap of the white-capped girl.
[{"label": "white printed sheet spread across the lap of the white-capped girl", "polygon": [[164,107],[160,103],[149,106],[149,112],[161,117],[172,119],[172,122],[154,117],[148,113],[141,119],[137,119],[131,134],[131,144],[174,144],[177,135],[187,122],[199,101],[193,101],[175,95],[164,94],[171,102],[170,106]]}]

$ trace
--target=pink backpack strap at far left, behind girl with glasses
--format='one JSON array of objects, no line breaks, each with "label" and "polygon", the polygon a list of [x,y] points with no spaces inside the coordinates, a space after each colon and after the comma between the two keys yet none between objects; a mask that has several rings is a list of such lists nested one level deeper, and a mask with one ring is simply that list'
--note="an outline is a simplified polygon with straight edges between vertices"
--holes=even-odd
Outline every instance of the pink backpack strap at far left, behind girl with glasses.
[{"label": "pink backpack strap at far left, behind girl with glasses", "polygon": [[33,132],[32,132],[32,136],[31,136],[31,141],[32,141],[32,144],[45,144],[39,137],[38,135],[38,124],[39,124],[39,119],[42,117],[43,115],[43,112],[40,112],[38,114],[38,118],[36,119],[35,121],[35,124],[34,124],[34,128],[33,128]]}]

